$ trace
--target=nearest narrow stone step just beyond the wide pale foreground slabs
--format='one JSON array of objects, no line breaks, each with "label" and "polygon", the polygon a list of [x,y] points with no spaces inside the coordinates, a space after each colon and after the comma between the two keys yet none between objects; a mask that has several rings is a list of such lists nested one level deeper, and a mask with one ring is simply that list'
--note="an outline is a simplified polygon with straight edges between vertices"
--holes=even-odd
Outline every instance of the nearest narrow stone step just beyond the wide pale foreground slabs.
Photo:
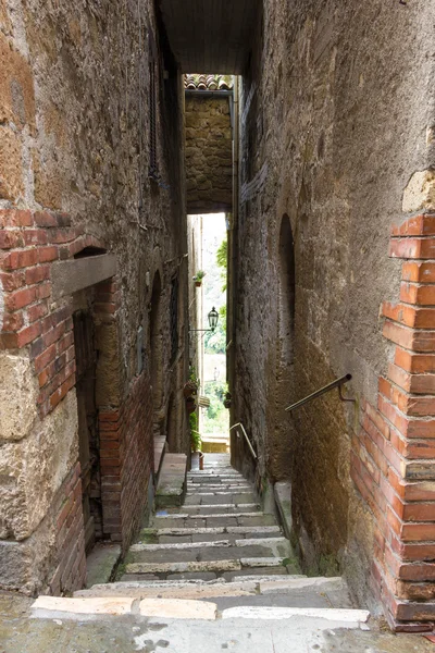
[{"label": "nearest narrow stone step just beyond the wide pale foreground slabs", "polygon": [[[240,553],[240,552],[239,552]],[[128,563],[125,566],[126,574],[153,574],[156,576],[167,576],[172,574],[186,572],[214,572],[221,576],[227,571],[234,572],[243,569],[281,568],[286,572],[285,558],[283,557],[234,557],[207,560],[181,560],[181,562],[138,562]]]}]

